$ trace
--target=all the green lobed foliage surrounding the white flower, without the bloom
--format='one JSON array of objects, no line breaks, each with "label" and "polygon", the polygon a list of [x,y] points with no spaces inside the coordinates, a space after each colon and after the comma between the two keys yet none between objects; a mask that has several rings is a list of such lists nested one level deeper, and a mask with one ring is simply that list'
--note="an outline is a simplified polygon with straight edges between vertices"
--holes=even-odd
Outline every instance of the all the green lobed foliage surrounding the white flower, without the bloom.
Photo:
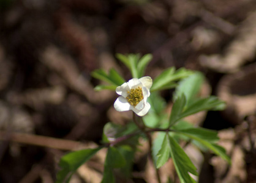
[{"label": "all the green lobed foliage surrounding the white flower, without the bloom", "polygon": [[[134,78],[144,76],[146,66],[152,59],[151,54],[146,54],[143,57],[139,54],[127,56],[116,54],[116,57],[129,68]],[[126,82],[114,69],[111,69],[108,74],[102,69],[96,70],[92,72],[92,76],[109,84],[98,85],[96,90],[115,90],[116,87]],[[162,167],[171,158],[181,183],[194,183],[195,180],[191,178],[190,174],[197,175],[197,170],[186,152],[179,146],[179,140],[192,142],[200,149],[209,149],[230,163],[225,149],[217,145],[219,138],[216,131],[194,127],[183,120],[183,118],[203,110],[222,110],[225,108],[225,102],[220,101],[215,96],[206,98],[198,96],[198,91],[200,91],[204,80],[205,77],[199,72],[185,68],[178,70],[174,67],[167,68],[153,81],[151,96],[148,98],[151,109],[145,117],[137,123],[132,121],[126,125],[105,124],[102,143],[105,144],[108,151],[104,163],[103,183],[115,182],[114,173],[125,178],[130,177],[135,149],[138,146],[138,137],[146,137],[145,134],[149,134],[149,132],[157,133],[151,147],[156,168]],[[175,87],[173,107],[170,117],[168,117],[168,114],[165,113],[167,102],[159,95],[158,91]],[[137,124],[141,124],[144,128],[141,129]],[[59,163],[62,169],[57,175],[56,183],[68,182],[77,168],[89,160],[99,149],[71,152],[62,157]],[[168,182],[171,180],[169,179]]]}]

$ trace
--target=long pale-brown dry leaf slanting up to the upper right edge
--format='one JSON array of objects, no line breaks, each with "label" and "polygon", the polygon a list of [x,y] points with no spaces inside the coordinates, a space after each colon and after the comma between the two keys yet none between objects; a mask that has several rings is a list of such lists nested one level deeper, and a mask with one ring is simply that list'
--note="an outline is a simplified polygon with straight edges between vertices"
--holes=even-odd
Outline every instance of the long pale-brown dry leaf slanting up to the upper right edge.
[{"label": "long pale-brown dry leaf slanting up to the upper right edge", "polygon": [[236,39],[224,55],[201,56],[201,65],[222,73],[233,73],[254,59],[256,52],[256,12],[250,13],[238,28]]}]

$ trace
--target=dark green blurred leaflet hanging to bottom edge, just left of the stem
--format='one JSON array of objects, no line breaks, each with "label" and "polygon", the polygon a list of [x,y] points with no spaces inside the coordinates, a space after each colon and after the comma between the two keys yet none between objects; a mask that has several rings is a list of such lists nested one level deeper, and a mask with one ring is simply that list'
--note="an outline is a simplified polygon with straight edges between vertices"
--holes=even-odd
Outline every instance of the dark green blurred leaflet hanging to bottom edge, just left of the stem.
[{"label": "dark green blurred leaflet hanging to bottom edge, just left of the stem", "polygon": [[104,164],[102,183],[115,183],[113,168],[121,168],[124,167],[124,165],[126,165],[126,160],[122,157],[118,149],[109,147]]}]

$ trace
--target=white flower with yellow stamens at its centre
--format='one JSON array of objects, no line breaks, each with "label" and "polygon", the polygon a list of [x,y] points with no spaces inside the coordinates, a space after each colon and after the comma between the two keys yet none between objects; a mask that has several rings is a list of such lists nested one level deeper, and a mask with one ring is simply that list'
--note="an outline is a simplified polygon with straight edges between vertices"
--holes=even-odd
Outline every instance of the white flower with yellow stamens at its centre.
[{"label": "white flower with yellow stamens at its centre", "polygon": [[130,79],[117,87],[116,93],[121,96],[115,101],[115,109],[118,111],[133,110],[140,117],[146,115],[151,107],[146,101],[150,95],[151,86],[151,77],[145,76],[140,79]]}]

